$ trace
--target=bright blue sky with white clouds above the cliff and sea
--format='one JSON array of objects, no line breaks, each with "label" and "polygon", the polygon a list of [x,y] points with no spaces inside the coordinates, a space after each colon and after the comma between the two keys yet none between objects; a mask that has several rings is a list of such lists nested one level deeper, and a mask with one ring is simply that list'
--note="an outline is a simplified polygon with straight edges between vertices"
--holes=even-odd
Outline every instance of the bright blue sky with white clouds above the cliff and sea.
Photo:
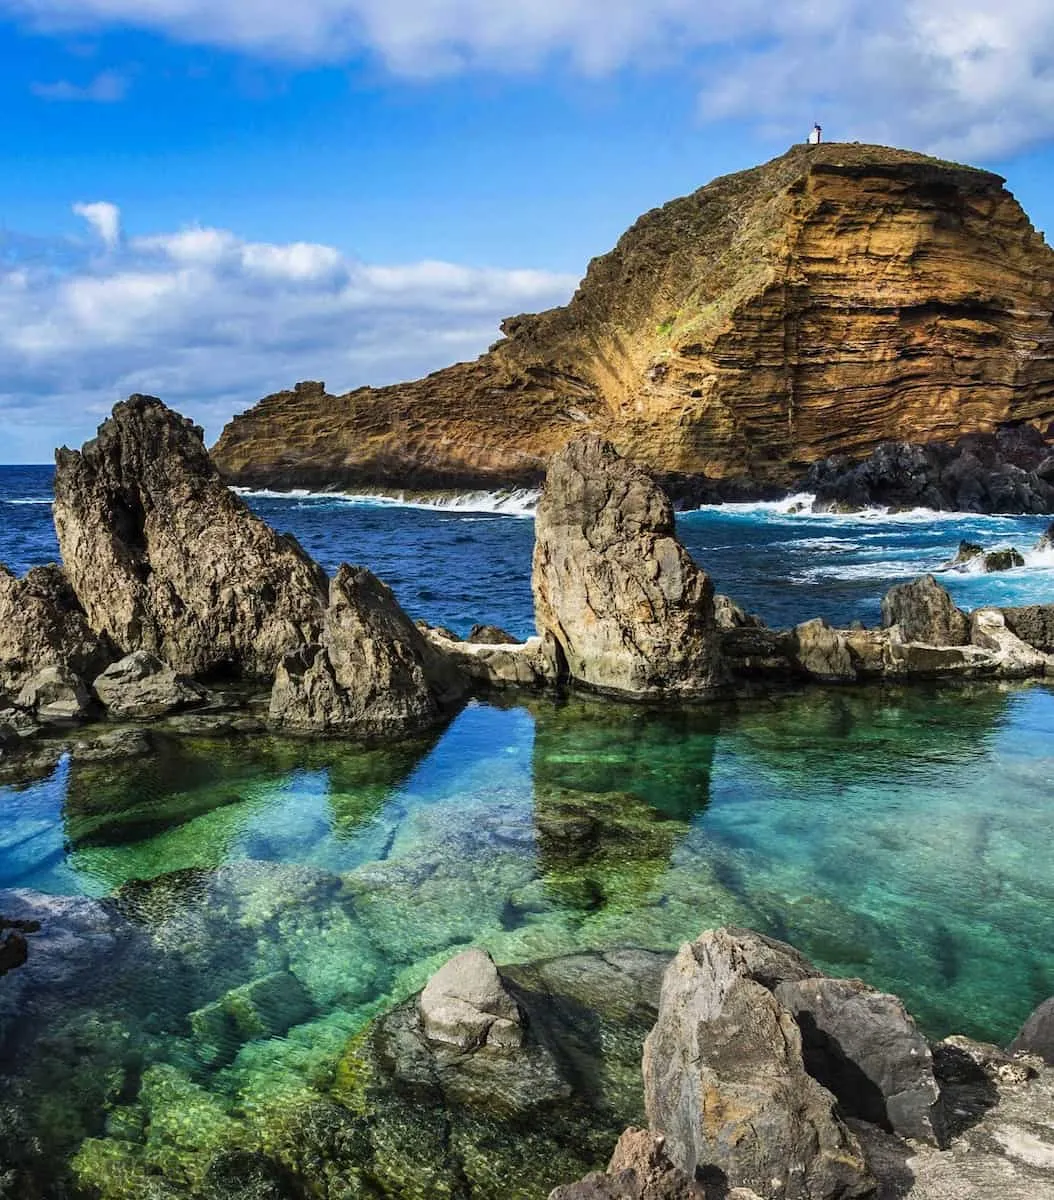
[{"label": "bright blue sky with white clouds above the cliff and sea", "polygon": [[0,462],[473,358],[816,120],[1054,230],[1050,0],[0,0]]}]

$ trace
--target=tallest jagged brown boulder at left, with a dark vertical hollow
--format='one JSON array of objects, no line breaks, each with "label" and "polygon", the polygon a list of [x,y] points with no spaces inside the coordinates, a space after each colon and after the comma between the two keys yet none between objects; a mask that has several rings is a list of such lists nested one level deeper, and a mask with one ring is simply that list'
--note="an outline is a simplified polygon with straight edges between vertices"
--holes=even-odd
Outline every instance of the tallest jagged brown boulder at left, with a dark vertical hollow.
[{"label": "tallest jagged brown boulder at left, with a dark vertical hollow", "polygon": [[202,431],[150,396],[55,456],[55,529],[90,626],[187,674],[270,677],[317,640],[327,580],[221,481]]}]

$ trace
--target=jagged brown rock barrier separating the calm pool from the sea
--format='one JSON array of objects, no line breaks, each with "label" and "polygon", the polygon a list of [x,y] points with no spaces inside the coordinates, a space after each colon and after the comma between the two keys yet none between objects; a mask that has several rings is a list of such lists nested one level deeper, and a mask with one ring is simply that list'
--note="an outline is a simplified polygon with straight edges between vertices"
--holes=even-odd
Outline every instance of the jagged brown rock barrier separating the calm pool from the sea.
[{"label": "jagged brown rock barrier separating the calm pool from the sea", "polygon": [[[202,431],[149,396],[60,450],[65,566],[0,571],[0,756],[106,715],[197,730],[413,737],[473,691],[577,686],[697,702],[870,679],[1054,673],[1054,605],[964,613],[933,576],[879,629],[767,629],[715,596],[663,488],[594,434],[553,455],[533,563],[538,637],[415,625],[364,566],[333,580],[221,480]],[[240,690],[239,690],[240,689]],[[248,712],[238,709],[250,703]],[[116,752],[116,748],[115,748]]]}]

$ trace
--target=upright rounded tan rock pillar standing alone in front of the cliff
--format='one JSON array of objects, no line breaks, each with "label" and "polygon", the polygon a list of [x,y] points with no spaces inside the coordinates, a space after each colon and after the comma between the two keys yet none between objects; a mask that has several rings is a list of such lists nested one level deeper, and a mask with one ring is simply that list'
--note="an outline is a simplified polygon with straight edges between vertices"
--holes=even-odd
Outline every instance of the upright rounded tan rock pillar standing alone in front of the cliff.
[{"label": "upright rounded tan rock pillar standing alone in front of the cliff", "polygon": [[535,520],[534,613],[571,679],[629,696],[721,683],[713,587],[663,490],[601,438],[555,455]]}]

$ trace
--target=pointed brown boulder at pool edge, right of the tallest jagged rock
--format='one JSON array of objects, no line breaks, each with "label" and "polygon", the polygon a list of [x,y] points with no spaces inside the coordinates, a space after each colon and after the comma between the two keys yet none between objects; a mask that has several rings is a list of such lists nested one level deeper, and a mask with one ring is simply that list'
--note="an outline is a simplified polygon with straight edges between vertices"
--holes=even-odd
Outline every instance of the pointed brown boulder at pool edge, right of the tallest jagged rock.
[{"label": "pointed brown boulder at pool edge, right of the tallest jagged rock", "polygon": [[279,665],[270,716],[305,732],[406,736],[441,724],[466,688],[391,589],[364,568],[345,565],[330,584],[318,641]]}]

